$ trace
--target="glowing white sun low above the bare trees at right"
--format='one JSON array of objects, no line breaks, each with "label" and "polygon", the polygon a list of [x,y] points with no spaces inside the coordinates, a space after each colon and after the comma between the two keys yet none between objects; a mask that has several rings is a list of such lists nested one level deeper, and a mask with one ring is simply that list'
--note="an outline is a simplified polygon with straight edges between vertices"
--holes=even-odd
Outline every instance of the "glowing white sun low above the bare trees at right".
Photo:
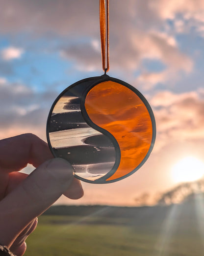
[{"label": "glowing white sun low above the bare trees at right", "polygon": [[204,162],[186,157],[179,160],[172,168],[172,177],[175,182],[196,181],[204,175]]}]

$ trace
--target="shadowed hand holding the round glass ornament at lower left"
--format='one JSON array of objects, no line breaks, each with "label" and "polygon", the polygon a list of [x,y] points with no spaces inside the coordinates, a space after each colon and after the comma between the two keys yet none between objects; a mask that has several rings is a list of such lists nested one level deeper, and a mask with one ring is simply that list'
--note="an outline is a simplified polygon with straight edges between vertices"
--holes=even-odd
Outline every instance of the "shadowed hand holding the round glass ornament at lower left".
[{"label": "shadowed hand holding the round glass ornament at lower left", "polygon": [[[83,196],[71,164],[52,159],[48,145],[33,134],[0,140],[0,244],[17,256],[26,251],[25,240],[37,225],[36,217],[64,193]],[[36,169],[19,172],[32,164]]]}]

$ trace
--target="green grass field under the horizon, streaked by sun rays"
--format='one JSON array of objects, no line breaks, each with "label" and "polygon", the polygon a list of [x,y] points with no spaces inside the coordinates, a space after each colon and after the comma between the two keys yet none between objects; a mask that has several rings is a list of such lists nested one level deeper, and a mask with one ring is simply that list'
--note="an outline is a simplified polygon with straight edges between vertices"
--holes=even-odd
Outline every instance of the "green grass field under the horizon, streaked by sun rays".
[{"label": "green grass field under the horizon, streaked by sun rays", "polygon": [[204,216],[195,205],[57,211],[39,218],[26,256],[204,255]]}]

